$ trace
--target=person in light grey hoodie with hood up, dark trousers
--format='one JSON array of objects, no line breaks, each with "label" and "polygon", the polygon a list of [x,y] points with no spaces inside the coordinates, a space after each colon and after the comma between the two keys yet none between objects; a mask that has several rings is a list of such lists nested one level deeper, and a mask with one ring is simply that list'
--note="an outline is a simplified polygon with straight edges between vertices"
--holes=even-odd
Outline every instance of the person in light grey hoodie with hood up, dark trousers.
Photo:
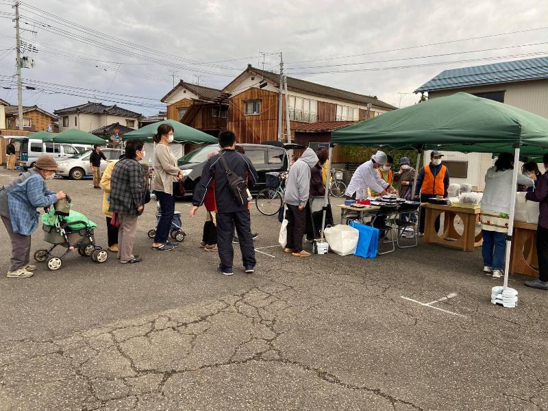
[{"label": "person in light grey hoodie with hood up, dark trousers", "polygon": [[306,203],[310,191],[310,169],[318,164],[318,156],[308,148],[301,158],[289,169],[286,180],[286,219],[287,244],[286,253],[296,257],[309,257],[310,253],[303,250],[303,235],[306,226]]}]

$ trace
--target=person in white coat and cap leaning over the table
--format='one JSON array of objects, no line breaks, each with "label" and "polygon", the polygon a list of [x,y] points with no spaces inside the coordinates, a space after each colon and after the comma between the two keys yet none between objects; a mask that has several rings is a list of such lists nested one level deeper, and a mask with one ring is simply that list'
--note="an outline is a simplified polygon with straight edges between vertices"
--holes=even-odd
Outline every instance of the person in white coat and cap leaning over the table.
[{"label": "person in white coat and cap leaning over the table", "polygon": [[376,191],[379,195],[386,195],[394,192],[394,188],[382,179],[377,169],[382,167],[388,161],[383,151],[377,151],[371,155],[371,160],[364,162],[356,169],[350,183],[348,184],[345,195],[347,199],[364,199],[367,188]]}]

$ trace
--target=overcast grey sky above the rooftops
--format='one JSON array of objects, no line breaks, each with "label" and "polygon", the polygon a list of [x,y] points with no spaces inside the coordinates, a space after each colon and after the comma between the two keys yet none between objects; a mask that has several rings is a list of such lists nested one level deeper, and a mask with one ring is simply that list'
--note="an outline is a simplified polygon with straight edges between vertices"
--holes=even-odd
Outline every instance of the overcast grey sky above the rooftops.
[{"label": "overcast grey sky above the rooftops", "polygon": [[[10,3],[0,0],[0,85],[13,88],[14,80],[5,77],[15,72],[15,52],[8,50],[15,43]],[[390,51],[548,26],[548,1],[538,0],[27,0],[21,16],[27,23],[21,27],[37,32],[36,40],[32,32],[22,32],[23,40],[38,47],[36,66],[23,69],[23,78],[42,85],[25,90],[23,104],[51,112],[97,95],[97,101],[119,101],[153,114],[172,88],[173,71],[176,79],[223,88],[248,63],[262,67],[260,51],[282,51],[288,75],[375,95],[396,106],[416,102],[416,95],[399,93],[412,93],[445,69],[548,54],[532,55],[548,51],[546,44],[532,45],[548,42],[548,29]],[[479,51],[485,49],[497,50]],[[447,53],[460,54],[440,55]],[[360,56],[344,57],[349,55]],[[427,57],[432,55],[438,56]],[[432,63],[449,64],[416,67]],[[277,70],[278,64],[279,55],[264,58],[265,69]],[[336,73],[314,74],[321,71]],[[109,101],[101,92],[132,97],[110,96]],[[0,89],[0,98],[15,104],[16,90]]]}]

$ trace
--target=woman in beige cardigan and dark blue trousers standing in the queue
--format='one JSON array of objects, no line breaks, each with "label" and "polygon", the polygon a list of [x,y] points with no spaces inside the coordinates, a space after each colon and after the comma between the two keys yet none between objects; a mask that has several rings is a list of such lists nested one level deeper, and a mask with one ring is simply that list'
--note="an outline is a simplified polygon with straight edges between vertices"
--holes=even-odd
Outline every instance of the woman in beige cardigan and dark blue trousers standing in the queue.
[{"label": "woman in beige cardigan and dark blue trousers standing in the queue", "polygon": [[153,190],[160,202],[162,213],[152,245],[152,249],[156,251],[170,251],[179,246],[179,242],[168,240],[171,221],[175,213],[173,184],[183,177],[183,172],[177,166],[177,158],[169,148],[169,143],[173,142],[173,132],[173,127],[164,123],[158,126],[158,133],[153,136],[154,142],[157,143],[153,160],[155,173]]}]

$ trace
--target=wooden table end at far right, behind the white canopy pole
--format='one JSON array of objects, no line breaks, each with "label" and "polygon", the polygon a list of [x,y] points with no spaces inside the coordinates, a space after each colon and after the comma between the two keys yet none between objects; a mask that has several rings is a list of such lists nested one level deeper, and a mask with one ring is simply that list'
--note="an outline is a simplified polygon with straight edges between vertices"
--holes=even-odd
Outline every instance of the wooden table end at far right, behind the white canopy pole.
[{"label": "wooden table end at far right, behind the white canopy pole", "polygon": [[510,251],[510,274],[538,277],[536,256],[536,224],[514,221],[512,249]]}]

